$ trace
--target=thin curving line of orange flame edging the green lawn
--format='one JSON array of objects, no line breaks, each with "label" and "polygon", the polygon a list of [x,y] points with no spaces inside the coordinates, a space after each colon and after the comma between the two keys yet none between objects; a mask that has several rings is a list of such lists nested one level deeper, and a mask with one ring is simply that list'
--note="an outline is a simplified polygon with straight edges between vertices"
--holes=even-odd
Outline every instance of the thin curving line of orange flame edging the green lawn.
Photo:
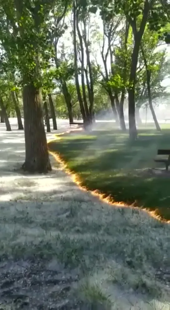
[{"label": "thin curving line of orange flame edging the green lawn", "polygon": [[[81,130],[81,129],[82,129],[82,128],[80,128],[80,130]],[[78,130],[77,130],[77,131],[78,131]],[[75,133],[76,133],[77,131],[74,130]],[[57,135],[56,135],[56,139],[54,139],[54,140],[49,140],[49,141],[48,141],[48,144],[49,144],[50,142],[54,142],[54,141],[56,141],[56,140],[61,140],[62,137],[60,137],[60,136],[62,136],[62,135],[64,135],[64,134],[67,134],[67,133],[71,133],[71,132],[73,132],[73,131],[70,130],[70,131],[67,131],[67,132],[62,132],[62,133],[60,133],[60,134],[57,134]],[[48,151],[49,151],[49,153],[55,158],[55,160],[56,160],[58,163],[61,164],[61,167],[63,168],[63,170],[64,170],[67,174],[70,175],[72,181],[73,181],[74,183],[77,184],[77,186],[79,187],[79,189],[81,189],[81,190],[83,190],[83,191],[86,191],[86,192],[89,192],[91,195],[93,195],[93,196],[95,196],[96,198],[98,198],[101,202],[107,203],[107,204],[112,205],[112,206],[114,206],[114,207],[118,207],[118,208],[119,208],[119,207],[122,207],[122,208],[133,207],[134,209],[141,209],[140,207],[134,206],[134,204],[135,204],[136,202],[134,202],[133,204],[127,204],[127,203],[125,203],[124,201],[121,201],[121,202],[120,202],[120,201],[115,201],[115,200],[113,199],[113,197],[111,197],[111,196],[106,196],[106,194],[100,193],[100,191],[99,191],[98,189],[92,191],[92,190],[86,188],[85,186],[82,185],[82,180],[81,180],[81,178],[79,177],[79,175],[78,175],[77,173],[74,173],[73,171],[71,171],[71,170],[68,168],[67,163],[65,162],[65,160],[61,157],[61,155],[60,155],[59,153],[52,152],[52,151],[50,151],[50,149],[49,149]],[[166,222],[166,223],[168,223],[168,224],[170,223],[170,220],[165,220],[165,219],[161,218],[161,216],[159,216],[159,215],[156,213],[156,210],[150,211],[150,210],[147,209],[147,208],[142,208],[142,210],[143,210],[144,212],[148,213],[150,216],[152,216],[152,217],[155,218],[156,220],[159,220],[159,221],[161,221],[161,222]]]}]

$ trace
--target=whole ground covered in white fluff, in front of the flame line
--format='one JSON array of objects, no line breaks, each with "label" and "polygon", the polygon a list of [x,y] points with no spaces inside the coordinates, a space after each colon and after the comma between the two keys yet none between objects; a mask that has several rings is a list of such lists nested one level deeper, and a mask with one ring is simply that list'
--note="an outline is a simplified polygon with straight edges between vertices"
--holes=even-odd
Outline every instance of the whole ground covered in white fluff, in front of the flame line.
[{"label": "whole ground covered in white fluff, in front of the flame line", "polygon": [[10,121],[12,132],[0,124],[0,309],[170,309],[170,224],[99,201],[53,157],[48,175],[22,173],[24,133]]}]

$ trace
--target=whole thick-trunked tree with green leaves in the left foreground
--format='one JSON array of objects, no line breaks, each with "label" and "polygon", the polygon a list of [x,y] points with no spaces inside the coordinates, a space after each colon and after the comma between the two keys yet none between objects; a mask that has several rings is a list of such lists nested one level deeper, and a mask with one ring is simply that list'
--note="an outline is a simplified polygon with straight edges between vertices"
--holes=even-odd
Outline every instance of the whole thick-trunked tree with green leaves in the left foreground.
[{"label": "whole thick-trunked tree with green leaves in the left foreground", "polygon": [[[26,146],[23,169],[29,172],[51,170],[43,123],[41,70],[46,70],[52,53],[48,28],[50,12],[55,5],[54,0],[36,0],[34,3],[8,0],[2,1],[0,6],[3,47],[19,70],[23,85]],[[7,27],[10,27],[10,36]]]}]

